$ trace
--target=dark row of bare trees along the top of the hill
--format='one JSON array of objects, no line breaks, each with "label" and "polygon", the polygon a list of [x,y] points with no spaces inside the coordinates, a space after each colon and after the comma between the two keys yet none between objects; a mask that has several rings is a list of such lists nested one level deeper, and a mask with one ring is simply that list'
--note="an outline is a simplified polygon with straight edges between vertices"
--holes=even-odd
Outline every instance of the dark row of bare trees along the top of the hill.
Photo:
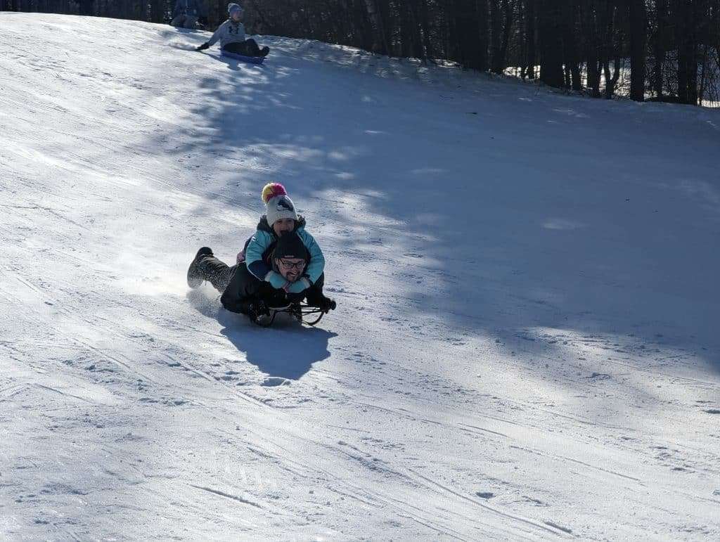
[{"label": "dark row of bare trees along the top of the hill", "polygon": [[[720,101],[720,0],[241,0],[252,33],[511,73],[594,97]],[[210,27],[227,0],[205,0]],[[167,22],[174,0],[0,0]]]}]

